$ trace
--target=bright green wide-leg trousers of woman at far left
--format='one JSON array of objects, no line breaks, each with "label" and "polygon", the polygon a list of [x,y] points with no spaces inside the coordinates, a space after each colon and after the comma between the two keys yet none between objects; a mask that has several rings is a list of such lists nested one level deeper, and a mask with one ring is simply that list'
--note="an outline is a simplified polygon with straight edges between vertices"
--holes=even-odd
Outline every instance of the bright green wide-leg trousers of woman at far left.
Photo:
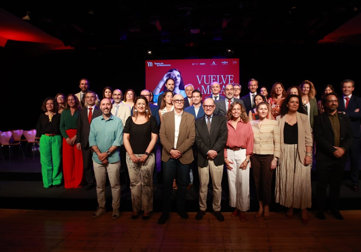
[{"label": "bright green wide-leg trousers of woman at far left", "polygon": [[60,167],[62,138],[57,136],[40,137],[40,163],[42,164],[43,183],[45,188],[60,185],[63,172]]}]

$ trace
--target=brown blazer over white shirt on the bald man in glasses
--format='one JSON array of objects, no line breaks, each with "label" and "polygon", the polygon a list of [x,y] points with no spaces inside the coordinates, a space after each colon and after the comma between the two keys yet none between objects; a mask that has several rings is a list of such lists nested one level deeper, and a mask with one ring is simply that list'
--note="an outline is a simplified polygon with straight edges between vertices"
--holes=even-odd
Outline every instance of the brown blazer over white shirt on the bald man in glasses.
[{"label": "brown blazer over white shirt on the bald man in glasses", "polygon": [[[167,112],[162,116],[162,122],[160,124],[160,142],[163,145],[162,161],[167,162],[170,158],[170,150],[174,148],[174,135],[175,135],[175,123],[174,123],[174,111]],[[179,161],[183,165],[190,164],[193,158],[192,146],[196,137],[195,119],[190,113],[182,113],[181,124],[179,125],[179,135],[177,141],[177,150],[182,153],[182,157]]]}]

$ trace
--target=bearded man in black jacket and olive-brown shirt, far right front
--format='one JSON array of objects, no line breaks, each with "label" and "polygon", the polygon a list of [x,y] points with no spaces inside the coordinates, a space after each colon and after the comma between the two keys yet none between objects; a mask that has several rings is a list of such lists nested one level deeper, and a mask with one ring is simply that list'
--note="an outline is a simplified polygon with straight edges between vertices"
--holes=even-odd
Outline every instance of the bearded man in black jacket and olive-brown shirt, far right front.
[{"label": "bearded man in black jacket and olive-brown shirt, far right front", "polygon": [[326,220],[326,189],[330,185],[331,214],[337,220],[343,220],[339,211],[340,188],[347,161],[345,152],[353,141],[351,122],[347,114],[338,113],[336,93],[327,94],[322,103],[325,112],[316,116],[313,124],[313,137],[317,146],[317,218]]}]

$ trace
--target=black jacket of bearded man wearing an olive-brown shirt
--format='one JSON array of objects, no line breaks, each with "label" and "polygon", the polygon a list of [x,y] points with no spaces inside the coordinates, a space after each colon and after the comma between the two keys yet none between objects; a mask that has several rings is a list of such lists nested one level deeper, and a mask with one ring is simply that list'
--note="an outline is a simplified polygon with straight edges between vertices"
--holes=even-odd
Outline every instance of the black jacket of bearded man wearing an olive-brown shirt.
[{"label": "black jacket of bearded man wearing an olive-brown shirt", "polygon": [[[338,113],[340,121],[340,147],[346,151],[351,147],[353,136],[350,119],[347,115]],[[316,160],[317,161],[347,161],[347,155],[342,158],[336,158],[333,153],[336,150],[335,135],[329,119],[329,114],[323,112],[314,118],[313,123],[313,138],[316,141]]]}]

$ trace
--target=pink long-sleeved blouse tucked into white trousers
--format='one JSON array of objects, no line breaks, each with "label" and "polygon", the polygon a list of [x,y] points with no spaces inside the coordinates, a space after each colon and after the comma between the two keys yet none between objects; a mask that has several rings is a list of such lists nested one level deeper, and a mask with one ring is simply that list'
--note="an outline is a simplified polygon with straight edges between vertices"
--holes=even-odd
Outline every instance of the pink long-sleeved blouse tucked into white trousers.
[{"label": "pink long-sleeved blouse tucked into white trousers", "polygon": [[227,147],[246,149],[246,156],[253,154],[253,130],[251,123],[243,123],[242,119],[237,123],[236,129],[232,126],[231,120],[227,122],[228,137],[225,146],[225,157]]}]

